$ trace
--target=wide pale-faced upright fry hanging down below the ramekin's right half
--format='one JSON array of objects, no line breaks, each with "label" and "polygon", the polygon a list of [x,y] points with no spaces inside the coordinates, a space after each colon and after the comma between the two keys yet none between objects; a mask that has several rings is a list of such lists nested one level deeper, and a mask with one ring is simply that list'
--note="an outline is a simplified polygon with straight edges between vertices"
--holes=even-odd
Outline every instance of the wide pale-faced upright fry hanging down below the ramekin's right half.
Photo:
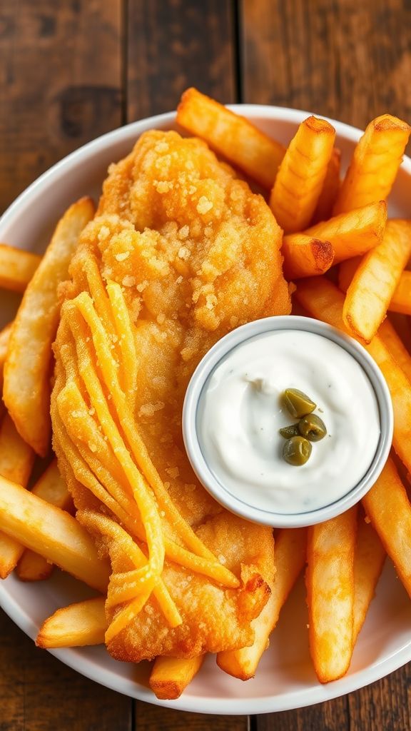
[{"label": "wide pale-faced upright fry hanging down below the ramekin's right half", "polygon": [[353,507],[308,531],[309,645],[321,683],[341,678],[350,667],[356,529]]}]

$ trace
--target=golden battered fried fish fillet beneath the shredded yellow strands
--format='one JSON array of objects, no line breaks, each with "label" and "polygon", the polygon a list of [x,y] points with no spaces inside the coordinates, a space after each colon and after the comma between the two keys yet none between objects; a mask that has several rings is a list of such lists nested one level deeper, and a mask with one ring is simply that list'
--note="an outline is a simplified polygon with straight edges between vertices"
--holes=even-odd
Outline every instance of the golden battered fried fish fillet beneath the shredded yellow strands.
[{"label": "golden battered fried fish fillet beneath the shredded yellow strands", "polygon": [[[186,458],[181,411],[192,372],[219,338],[253,319],[290,312],[280,244],[281,231],[263,198],[235,178],[205,143],[158,131],[146,132],[127,158],[110,167],[97,216],[80,237],[62,297],[69,303],[88,291],[85,271],[91,259],[103,282],[121,285],[137,351],[136,428],[181,515],[241,578],[239,588],[225,588],[166,560],[162,580],[182,624],[168,626],[151,595],[143,611],[110,641],[108,650],[117,659],[188,657],[253,641],[250,623],[274,578],[271,529],[231,515],[204,491]],[[67,354],[73,352],[67,306],[61,312],[54,447],[78,517],[87,524],[88,508],[109,511],[75,479],[59,437],[67,428],[59,414],[59,393],[67,382],[72,357]],[[165,519],[163,530],[174,535]],[[127,552],[113,539],[96,537],[108,550],[114,572],[131,568]],[[108,619],[118,611],[107,606]]]}]

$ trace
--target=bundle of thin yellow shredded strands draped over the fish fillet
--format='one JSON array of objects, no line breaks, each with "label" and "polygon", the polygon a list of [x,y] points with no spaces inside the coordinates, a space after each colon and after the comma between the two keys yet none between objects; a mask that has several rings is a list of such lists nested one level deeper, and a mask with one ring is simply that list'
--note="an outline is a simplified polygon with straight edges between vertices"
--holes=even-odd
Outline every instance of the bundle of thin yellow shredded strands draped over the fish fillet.
[{"label": "bundle of thin yellow shredded strands draped over the fish fillet", "polygon": [[[113,281],[105,287],[94,259],[84,262],[83,271],[90,295],[82,292],[61,311],[73,342],[61,352],[67,377],[57,398],[56,437],[75,479],[124,526],[99,512],[78,512],[86,527],[115,540],[132,563],[128,572],[110,577],[106,606],[127,602],[108,627],[105,640],[110,643],[151,594],[170,626],[181,624],[161,577],[165,556],[224,586],[236,588],[239,581],[182,518],[137,432],[137,353],[121,287]],[[162,516],[187,548],[165,536]],[[148,556],[135,538],[146,545]]]}]

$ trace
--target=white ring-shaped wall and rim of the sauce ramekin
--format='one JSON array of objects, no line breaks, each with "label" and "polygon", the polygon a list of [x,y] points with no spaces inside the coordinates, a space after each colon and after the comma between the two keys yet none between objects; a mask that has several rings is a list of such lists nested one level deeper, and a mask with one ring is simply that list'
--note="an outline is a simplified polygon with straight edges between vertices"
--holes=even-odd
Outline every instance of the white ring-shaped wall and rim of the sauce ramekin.
[{"label": "white ring-shaped wall and rim of the sauce ramekin", "polygon": [[[201,443],[197,431],[197,408],[208,376],[211,375],[211,372],[218,366],[222,358],[236,346],[249,340],[249,338],[270,333],[274,330],[303,330],[328,338],[337,345],[342,346],[355,358],[361,368],[363,368],[377,398],[380,412],[380,439],[369,469],[363,475],[360,482],[352,485],[352,489],[344,496],[317,510],[290,514],[263,510],[252,504],[252,490],[250,490],[249,503],[244,502],[229,492],[225,488],[225,485],[216,479],[201,450]],[[366,352],[366,349],[353,338],[337,330],[336,327],[331,327],[331,325],[326,325],[324,322],[312,319],[311,317],[299,317],[296,315],[266,317],[255,322],[249,322],[248,325],[242,325],[236,330],[233,330],[219,340],[203,357],[203,360],[200,361],[189,382],[186,398],[184,399],[183,437],[189,461],[198,479],[206,490],[220,504],[224,505],[227,510],[241,515],[243,518],[252,520],[254,523],[264,523],[265,525],[275,526],[277,528],[312,526],[315,523],[322,523],[323,520],[335,518],[336,515],[340,515],[344,510],[348,510],[348,508],[355,505],[372,488],[377,477],[380,476],[390,451],[393,438],[393,406],[391,404],[391,395],[388,386],[385,383],[380,368],[378,368],[372,357]]]}]

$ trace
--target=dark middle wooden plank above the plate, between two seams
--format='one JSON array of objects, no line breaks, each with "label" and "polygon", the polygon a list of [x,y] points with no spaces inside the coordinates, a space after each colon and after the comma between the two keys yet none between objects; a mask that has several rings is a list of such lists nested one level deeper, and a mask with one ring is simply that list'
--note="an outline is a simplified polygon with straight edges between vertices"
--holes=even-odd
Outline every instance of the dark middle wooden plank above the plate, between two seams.
[{"label": "dark middle wooden plank above the plate, between two seams", "polygon": [[176,109],[189,86],[235,101],[230,0],[129,0],[128,6],[128,121]]}]

